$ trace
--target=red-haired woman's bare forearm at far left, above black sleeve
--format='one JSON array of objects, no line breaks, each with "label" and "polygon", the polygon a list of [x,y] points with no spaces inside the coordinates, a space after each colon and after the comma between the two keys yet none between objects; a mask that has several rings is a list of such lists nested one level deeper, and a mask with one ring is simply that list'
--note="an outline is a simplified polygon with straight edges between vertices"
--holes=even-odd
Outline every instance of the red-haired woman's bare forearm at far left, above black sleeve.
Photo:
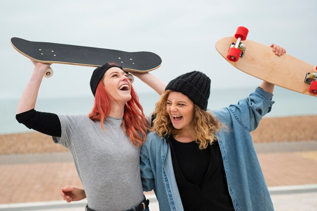
[{"label": "red-haired woman's bare forearm at far left, above black sleeve", "polygon": [[50,67],[51,64],[43,64],[32,61],[34,64],[33,74],[26,85],[19,105],[17,109],[17,114],[29,111],[35,108],[36,98],[41,85],[45,71]]}]

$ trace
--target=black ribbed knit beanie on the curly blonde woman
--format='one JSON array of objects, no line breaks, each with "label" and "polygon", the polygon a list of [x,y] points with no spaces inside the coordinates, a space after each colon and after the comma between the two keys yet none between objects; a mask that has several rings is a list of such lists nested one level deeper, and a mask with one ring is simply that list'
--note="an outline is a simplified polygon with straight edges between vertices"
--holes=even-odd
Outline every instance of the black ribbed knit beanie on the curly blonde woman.
[{"label": "black ribbed knit beanie on the curly blonde woman", "polygon": [[210,78],[202,72],[192,71],[170,81],[165,90],[181,92],[204,111],[210,95]]}]

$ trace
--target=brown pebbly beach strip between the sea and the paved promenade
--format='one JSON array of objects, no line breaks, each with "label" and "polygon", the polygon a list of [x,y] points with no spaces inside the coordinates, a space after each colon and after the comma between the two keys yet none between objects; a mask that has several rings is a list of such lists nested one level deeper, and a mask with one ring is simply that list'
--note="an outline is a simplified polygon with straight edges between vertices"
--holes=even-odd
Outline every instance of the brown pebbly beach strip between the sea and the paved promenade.
[{"label": "brown pebbly beach strip between the sea and the paved promenade", "polygon": [[[255,143],[317,140],[316,123],[317,115],[263,118],[251,135]],[[67,151],[39,132],[3,134],[0,143],[0,154]]]}]

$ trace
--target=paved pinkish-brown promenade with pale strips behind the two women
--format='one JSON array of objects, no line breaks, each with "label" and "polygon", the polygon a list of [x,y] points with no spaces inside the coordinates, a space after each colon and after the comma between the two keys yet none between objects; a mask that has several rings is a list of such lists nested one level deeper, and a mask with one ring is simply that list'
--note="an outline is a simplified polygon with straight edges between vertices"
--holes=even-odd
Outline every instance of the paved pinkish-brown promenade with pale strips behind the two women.
[{"label": "paved pinkish-brown promenade with pale strips behind the two women", "polygon": [[[255,149],[277,211],[317,211],[317,140],[257,143]],[[0,155],[0,210],[83,211],[66,203],[60,188],[80,186],[69,152]],[[153,192],[151,211],[159,210]]]}]

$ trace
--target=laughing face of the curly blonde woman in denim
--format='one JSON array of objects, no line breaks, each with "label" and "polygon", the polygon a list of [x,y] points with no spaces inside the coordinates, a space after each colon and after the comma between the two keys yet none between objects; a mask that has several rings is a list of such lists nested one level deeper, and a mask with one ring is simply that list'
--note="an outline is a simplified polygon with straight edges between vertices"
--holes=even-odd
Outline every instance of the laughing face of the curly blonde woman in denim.
[{"label": "laughing face of the curly blonde woman in denim", "polygon": [[166,110],[174,128],[187,132],[193,130],[194,103],[186,95],[176,91],[170,92]]}]

